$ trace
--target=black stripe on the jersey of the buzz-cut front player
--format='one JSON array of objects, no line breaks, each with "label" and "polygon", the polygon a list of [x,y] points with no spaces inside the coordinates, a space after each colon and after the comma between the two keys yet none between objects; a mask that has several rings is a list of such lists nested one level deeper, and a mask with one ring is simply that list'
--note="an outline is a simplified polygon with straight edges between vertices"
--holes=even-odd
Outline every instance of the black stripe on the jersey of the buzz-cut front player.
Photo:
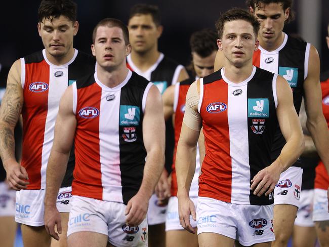
[{"label": "black stripe on the jersey of the buzz-cut front player", "polygon": [[[122,87],[120,96],[120,106],[138,106],[140,108],[140,121],[137,126],[119,125],[119,145],[120,145],[120,171],[122,185],[122,199],[127,204],[128,201],[138,192],[144,172],[146,150],[143,142],[143,110],[142,100],[146,86],[149,81],[133,72],[128,83]],[[125,114],[120,112],[119,115]],[[125,128],[134,128],[137,140],[127,142],[124,138]],[[156,138],[156,137],[154,137]]]}]

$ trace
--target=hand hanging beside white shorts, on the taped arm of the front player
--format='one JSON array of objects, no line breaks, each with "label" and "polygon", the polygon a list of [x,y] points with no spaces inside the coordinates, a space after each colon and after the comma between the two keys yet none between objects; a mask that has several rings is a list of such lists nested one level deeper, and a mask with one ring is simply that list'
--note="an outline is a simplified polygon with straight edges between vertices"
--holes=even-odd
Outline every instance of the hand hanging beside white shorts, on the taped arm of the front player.
[{"label": "hand hanging beside white shorts, on the taped arm of the front player", "polygon": [[194,234],[195,230],[191,226],[190,215],[192,215],[193,220],[196,220],[195,206],[188,196],[178,197],[178,213],[181,226]]}]

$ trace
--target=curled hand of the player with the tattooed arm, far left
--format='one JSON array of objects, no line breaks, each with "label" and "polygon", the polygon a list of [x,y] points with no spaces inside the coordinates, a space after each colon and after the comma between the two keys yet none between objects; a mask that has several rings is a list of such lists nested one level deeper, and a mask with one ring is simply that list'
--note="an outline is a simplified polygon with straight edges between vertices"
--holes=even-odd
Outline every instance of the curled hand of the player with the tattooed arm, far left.
[{"label": "curled hand of the player with the tattooed arm, far left", "polygon": [[26,189],[29,184],[27,172],[16,160],[6,162],[7,183],[14,190]]}]

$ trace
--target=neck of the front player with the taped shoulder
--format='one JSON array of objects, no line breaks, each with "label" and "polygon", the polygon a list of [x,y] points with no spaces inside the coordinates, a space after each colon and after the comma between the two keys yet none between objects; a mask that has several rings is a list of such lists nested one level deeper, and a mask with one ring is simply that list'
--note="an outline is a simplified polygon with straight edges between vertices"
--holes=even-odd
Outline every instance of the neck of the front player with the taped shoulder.
[{"label": "neck of the front player with the taped shoulder", "polygon": [[242,67],[235,67],[233,64],[227,62],[224,65],[224,75],[232,83],[241,83],[248,79],[253,72],[253,64],[248,63]]}]

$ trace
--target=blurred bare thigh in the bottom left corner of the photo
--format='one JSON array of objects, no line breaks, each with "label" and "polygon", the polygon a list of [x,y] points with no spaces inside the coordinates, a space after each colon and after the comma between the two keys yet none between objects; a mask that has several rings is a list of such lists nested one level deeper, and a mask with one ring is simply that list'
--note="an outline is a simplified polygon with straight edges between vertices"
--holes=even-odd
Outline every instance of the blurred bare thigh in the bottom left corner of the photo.
[{"label": "blurred bare thigh in the bottom left corner of the photo", "polygon": [[0,239],[1,246],[12,247],[14,246],[17,223],[14,216],[0,217]]}]

